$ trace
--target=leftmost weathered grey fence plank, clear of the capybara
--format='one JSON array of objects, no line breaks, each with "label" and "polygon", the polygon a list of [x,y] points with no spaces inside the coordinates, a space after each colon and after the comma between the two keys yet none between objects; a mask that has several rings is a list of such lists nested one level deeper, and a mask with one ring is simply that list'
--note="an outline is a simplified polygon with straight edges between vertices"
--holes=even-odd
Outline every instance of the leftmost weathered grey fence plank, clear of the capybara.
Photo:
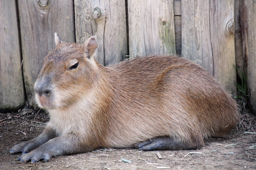
[{"label": "leftmost weathered grey fence plank, clear of the capybara", "polygon": [[15,0],[0,1],[0,110],[25,102],[17,21]]}]

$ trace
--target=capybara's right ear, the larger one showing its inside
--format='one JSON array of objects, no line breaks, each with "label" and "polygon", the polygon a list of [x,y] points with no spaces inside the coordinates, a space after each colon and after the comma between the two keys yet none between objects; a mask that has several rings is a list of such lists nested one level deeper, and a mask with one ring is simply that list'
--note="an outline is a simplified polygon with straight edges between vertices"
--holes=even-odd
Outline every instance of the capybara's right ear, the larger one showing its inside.
[{"label": "capybara's right ear, the larger one showing its inside", "polygon": [[95,54],[95,51],[98,47],[98,43],[96,41],[96,37],[92,36],[89,39],[87,39],[84,44],[84,50],[85,50],[85,55],[88,59],[90,59],[91,57],[93,57],[93,55]]}]

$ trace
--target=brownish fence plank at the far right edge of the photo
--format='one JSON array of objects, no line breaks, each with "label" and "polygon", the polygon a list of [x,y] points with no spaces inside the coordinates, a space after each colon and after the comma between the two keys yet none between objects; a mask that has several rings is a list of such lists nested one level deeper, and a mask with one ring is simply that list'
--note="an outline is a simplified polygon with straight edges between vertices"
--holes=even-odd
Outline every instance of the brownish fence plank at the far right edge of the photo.
[{"label": "brownish fence plank at the far right edge of the photo", "polygon": [[241,8],[244,57],[248,60],[248,95],[256,114],[256,2],[242,0]]}]

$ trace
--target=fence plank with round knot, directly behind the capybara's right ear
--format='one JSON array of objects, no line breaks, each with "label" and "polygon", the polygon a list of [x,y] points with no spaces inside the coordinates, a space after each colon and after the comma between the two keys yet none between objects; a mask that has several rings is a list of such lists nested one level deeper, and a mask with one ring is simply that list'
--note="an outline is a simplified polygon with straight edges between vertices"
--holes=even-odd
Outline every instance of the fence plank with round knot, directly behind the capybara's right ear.
[{"label": "fence plank with round knot, directly behind the capybara's right ear", "polygon": [[[90,36],[96,35],[99,47],[95,59],[102,65],[125,59],[128,51],[125,1],[74,0],[74,3],[76,42],[83,43]],[[95,15],[97,10],[100,16]]]}]

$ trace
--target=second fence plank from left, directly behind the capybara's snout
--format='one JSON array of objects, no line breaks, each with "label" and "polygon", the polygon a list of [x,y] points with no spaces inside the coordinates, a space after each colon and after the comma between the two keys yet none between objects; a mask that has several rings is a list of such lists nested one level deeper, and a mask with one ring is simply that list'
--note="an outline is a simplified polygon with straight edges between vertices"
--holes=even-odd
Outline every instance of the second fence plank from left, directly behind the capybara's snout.
[{"label": "second fence plank from left, directly behind the capybara's snout", "polygon": [[54,32],[74,42],[73,0],[18,0],[24,83],[34,104],[34,82],[45,55],[54,47]]}]

